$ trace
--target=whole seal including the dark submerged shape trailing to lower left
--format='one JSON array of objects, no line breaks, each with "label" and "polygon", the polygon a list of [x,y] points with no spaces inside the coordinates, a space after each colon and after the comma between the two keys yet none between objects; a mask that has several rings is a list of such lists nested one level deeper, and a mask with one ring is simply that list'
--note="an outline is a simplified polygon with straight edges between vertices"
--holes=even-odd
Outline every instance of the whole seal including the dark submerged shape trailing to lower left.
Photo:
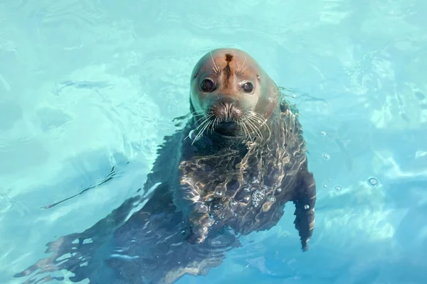
[{"label": "whole seal including the dark submerged shape trailing to lower left", "polygon": [[206,275],[239,236],[275,226],[287,202],[307,251],[315,180],[297,109],[275,82],[243,50],[212,50],[191,72],[189,108],[184,127],[164,138],[141,196],[52,241],[53,255],[16,277],[65,269],[73,282],[122,284]]}]

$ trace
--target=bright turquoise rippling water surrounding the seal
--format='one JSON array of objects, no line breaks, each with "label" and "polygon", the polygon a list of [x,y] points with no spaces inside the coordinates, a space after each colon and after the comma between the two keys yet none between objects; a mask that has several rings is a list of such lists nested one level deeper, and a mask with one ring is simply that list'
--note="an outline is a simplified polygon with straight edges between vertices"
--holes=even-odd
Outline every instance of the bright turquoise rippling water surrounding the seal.
[{"label": "bright turquoise rippling water surrounding the seal", "polygon": [[421,0],[1,0],[0,283],[137,194],[218,47],[295,89],[316,228],[302,253],[288,209],[178,283],[427,283],[426,13]]}]

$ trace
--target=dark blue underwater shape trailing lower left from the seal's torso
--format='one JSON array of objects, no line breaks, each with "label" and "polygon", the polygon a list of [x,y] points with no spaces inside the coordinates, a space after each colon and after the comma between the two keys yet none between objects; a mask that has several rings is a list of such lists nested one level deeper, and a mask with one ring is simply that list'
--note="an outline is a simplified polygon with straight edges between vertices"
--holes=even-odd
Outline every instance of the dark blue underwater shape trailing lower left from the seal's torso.
[{"label": "dark blue underwater shape trailing lower left from the seal's torso", "polygon": [[[224,253],[240,243],[233,231],[223,228],[212,230],[202,244],[189,244],[188,223],[174,205],[169,190],[171,181],[164,180],[167,178],[164,173],[171,173],[174,165],[173,138],[167,137],[159,149],[154,170],[140,195],[125,200],[89,229],[49,242],[46,253],[51,256],[14,276],[28,277],[25,281],[28,284],[46,283],[63,280],[54,274],[66,270],[74,274],[70,277],[73,282],[87,278],[90,283],[103,284],[172,283],[184,274],[206,275],[209,268],[219,266]],[[113,168],[99,184],[75,196],[114,177]]]}]

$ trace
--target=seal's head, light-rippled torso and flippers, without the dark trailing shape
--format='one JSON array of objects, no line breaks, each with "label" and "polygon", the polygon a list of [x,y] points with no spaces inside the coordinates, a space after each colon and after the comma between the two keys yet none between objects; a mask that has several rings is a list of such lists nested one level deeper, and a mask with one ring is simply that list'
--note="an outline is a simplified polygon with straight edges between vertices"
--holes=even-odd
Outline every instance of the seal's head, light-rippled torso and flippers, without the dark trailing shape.
[{"label": "seal's head, light-rippled torso and flippers, without the dark trailing shape", "polygon": [[269,229],[292,200],[307,250],[315,181],[307,170],[301,126],[277,85],[237,49],[212,50],[192,75],[194,141],[183,143],[181,186],[174,190],[174,202],[191,227],[190,241],[204,241],[214,224],[241,234]]}]

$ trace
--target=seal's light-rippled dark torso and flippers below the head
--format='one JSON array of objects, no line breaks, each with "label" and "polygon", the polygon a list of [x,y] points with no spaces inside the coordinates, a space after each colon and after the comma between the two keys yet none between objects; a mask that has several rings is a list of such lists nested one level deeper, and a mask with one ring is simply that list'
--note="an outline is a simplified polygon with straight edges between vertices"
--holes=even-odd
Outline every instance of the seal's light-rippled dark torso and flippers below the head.
[{"label": "seal's light-rippled dark torso and flippers below the head", "polygon": [[292,201],[302,248],[307,249],[316,193],[302,129],[284,100],[273,115],[278,117],[271,119],[277,123],[270,125],[270,139],[242,141],[211,134],[196,143],[182,142],[181,187],[174,190],[174,202],[188,218],[189,241],[203,241],[207,231],[223,226],[236,234],[270,229]]}]

